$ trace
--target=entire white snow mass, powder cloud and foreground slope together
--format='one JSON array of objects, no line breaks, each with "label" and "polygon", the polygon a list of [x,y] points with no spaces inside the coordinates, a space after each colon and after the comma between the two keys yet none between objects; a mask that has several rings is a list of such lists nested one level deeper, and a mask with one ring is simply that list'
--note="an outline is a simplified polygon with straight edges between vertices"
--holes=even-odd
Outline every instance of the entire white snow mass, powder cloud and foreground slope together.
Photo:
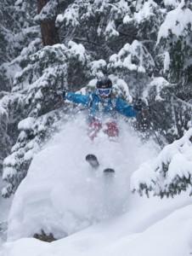
[{"label": "entire white snow mass, powder cloud and foreground slope together", "polygon": [[[8,242],[1,256],[184,256],[192,252],[191,199],[132,195],[131,174],[156,154],[156,148],[153,143],[140,143],[123,122],[120,129],[116,142],[101,135],[92,143],[80,116],[36,155],[14,196]],[[84,160],[88,153],[97,154],[101,162],[96,172]],[[104,177],[105,167],[115,167],[116,177]],[[68,236],[51,244],[25,238],[41,229],[58,238]]]}]

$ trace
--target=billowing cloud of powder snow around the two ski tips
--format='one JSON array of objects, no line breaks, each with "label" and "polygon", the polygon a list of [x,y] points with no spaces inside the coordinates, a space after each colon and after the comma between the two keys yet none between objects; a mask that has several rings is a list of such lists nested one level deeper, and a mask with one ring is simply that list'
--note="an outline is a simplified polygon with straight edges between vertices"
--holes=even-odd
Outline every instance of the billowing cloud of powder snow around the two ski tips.
[{"label": "billowing cloud of powder snow around the two ski tips", "polygon": [[[127,212],[130,175],[155,154],[155,145],[143,145],[121,119],[119,126],[116,141],[100,133],[94,142],[87,135],[82,114],[60,128],[35,156],[14,196],[8,220],[9,240],[41,230],[57,238],[68,236]],[[85,161],[87,154],[97,155],[97,171]],[[104,176],[107,167],[116,170],[115,177]]]}]

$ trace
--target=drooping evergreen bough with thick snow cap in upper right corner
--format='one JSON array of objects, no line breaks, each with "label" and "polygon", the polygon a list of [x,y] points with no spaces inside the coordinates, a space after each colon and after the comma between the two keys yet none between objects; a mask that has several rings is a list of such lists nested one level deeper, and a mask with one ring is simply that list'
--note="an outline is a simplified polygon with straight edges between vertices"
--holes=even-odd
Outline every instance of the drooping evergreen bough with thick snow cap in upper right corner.
[{"label": "drooping evergreen bough with thick snow cap in upper right corner", "polygon": [[192,11],[189,4],[190,1],[182,0],[176,9],[167,13],[158,32],[157,44],[165,56],[163,73],[172,84],[179,84],[180,94],[185,90],[185,94],[191,96],[187,86],[192,82]]}]

